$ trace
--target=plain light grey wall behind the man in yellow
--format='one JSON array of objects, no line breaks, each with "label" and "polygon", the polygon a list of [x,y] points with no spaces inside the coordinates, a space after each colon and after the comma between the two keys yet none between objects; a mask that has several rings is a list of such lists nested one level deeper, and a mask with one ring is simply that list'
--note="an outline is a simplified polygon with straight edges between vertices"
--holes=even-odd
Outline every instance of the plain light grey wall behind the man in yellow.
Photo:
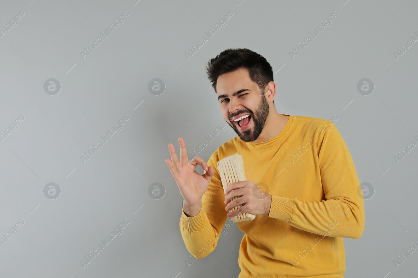
[{"label": "plain light grey wall behind the man in yellow", "polygon": [[[224,49],[243,47],[272,65],[279,113],[338,116],[360,182],[374,187],[374,196],[364,200],[362,237],[344,238],[346,277],[417,275],[417,252],[399,268],[393,262],[418,241],[418,147],[398,164],[393,158],[418,142],[418,43],[398,59],[393,54],[412,36],[418,39],[415,1],[0,5],[1,28],[25,13],[0,38],[0,131],[25,117],[0,142],[0,235],[25,221],[0,246],[2,277],[237,277],[243,233],[236,224],[213,253],[187,267],[182,198],[164,160],[168,143],[179,152],[181,136],[191,150],[224,123],[204,65]],[[125,10],[122,26],[83,60],[80,52]],[[229,10],[234,15],[227,25],[187,59],[185,51]],[[334,10],[331,26],[292,60],[289,52]],[[43,90],[49,78],[61,84],[56,95]],[[163,94],[148,91],[153,78],[164,81]],[[362,78],[375,84],[372,94],[357,91]],[[129,120],[122,130],[83,164],[84,151],[123,115]],[[200,156],[207,160],[235,136],[228,126]],[[200,166],[198,171],[203,173]],[[50,182],[61,188],[54,200],[43,194]],[[159,200],[148,195],[156,182],[165,188]],[[84,255],[124,219],[129,224],[123,233],[83,268]]]}]

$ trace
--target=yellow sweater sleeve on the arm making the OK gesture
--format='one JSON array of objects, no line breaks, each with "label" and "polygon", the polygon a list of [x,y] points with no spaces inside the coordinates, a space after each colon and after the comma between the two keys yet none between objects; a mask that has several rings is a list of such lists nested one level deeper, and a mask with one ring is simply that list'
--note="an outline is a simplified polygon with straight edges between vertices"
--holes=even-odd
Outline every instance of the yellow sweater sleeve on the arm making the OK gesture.
[{"label": "yellow sweater sleeve on the arm making the OK gesture", "polygon": [[188,217],[182,210],[180,218],[180,231],[186,248],[198,259],[206,257],[215,249],[227,220],[224,189],[216,167],[217,159],[218,151],[215,151],[207,162],[214,169],[214,175],[202,196],[200,212],[194,217]]}]

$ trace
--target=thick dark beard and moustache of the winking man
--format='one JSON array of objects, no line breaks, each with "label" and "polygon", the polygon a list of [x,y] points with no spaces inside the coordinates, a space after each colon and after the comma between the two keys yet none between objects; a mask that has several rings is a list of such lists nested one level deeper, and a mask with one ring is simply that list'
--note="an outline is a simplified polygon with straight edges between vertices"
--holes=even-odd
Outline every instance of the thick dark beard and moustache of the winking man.
[{"label": "thick dark beard and moustache of the winking man", "polygon": [[268,105],[267,99],[265,95],[262,96],[260,104],[258,105],[257,109],[255,110],[255,115],[252,113],[251,110],[242,110],[240,113],[250,113],[251,120],[254,123],[254,130],[252,131],[250,128],[247,128],[244,131],[240,131],[235,124],[230,124],[228,121],[228,125],[240,136],[241,140],[244,142],[252,142],[257,140],[258,136],[260,135],[261,131],[263,131],[263,127],[265,121],[267,120],[268,114],[270,111],[270,107]]}]

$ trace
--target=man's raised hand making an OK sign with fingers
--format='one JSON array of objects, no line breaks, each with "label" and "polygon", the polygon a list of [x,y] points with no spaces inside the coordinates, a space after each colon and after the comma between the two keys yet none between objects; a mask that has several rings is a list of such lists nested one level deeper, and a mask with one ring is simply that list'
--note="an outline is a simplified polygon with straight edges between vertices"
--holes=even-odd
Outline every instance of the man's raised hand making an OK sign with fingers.
[{"label": "man's raised hand making an OK sign with fingers", "polygon": [[[180,143],[180,161],[178,161],[173,144],[170,143],[168,144],[168,150],[170,150],[171,160],[167,158],[166,163],[183,197],[183,210],[188,217],[193,217],[201,210],[201,199],[208,189],[214,169],[212,166],[208,167],[199,156],[193,158],[189,163],[186,143],[184,143],[183,138],[178,138],[178,143]],[[204,175],[196,172],[195,169],[198,164],[206,170]]]}]

